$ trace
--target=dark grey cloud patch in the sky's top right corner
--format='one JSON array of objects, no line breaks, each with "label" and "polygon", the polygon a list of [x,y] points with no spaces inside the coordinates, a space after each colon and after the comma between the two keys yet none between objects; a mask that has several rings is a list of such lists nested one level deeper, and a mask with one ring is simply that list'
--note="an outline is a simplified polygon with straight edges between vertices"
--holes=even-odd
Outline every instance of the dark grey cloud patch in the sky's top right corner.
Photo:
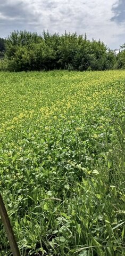
[{"label": "dark grey cloud patch in the sky's top right corner", "polygon": [[114,12],[114,17],[111,19],[116,22],[124,22],[125,21],[125,2],[124,0],[120,0],[119,5],[117,7],[112,7]]}]

